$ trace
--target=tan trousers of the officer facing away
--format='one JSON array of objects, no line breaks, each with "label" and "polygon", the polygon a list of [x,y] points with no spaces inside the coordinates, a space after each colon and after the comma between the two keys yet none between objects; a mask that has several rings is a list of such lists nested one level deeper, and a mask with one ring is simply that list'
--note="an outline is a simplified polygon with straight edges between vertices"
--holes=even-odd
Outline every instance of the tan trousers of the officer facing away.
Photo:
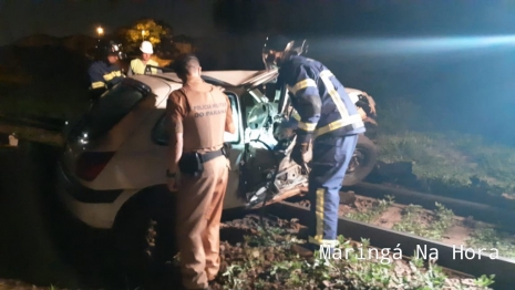
[{"label": "tan trousers of the officer facing away", "polygon": [[199,177],[182,176],[177,190],[177,239],[186,289],[207,288],[219,270],[219,226],[228,159],[204,164]]}]

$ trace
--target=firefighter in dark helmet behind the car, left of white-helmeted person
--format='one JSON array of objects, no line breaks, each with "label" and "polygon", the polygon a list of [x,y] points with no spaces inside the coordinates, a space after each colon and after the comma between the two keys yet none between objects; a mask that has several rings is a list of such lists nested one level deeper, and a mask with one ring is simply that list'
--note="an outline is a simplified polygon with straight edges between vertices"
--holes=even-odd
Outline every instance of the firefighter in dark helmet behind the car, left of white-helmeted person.
[{"label": "firefighter in dark helmet behind the car, left of white-helmeted person", "polygon": [[105,90],[120,83],[125,75],[117,65],[124,59],[121,45],[113,41],[99,41],[95,48],[95,61],[90,65],[90,90],[92,99],[99,97]]}]

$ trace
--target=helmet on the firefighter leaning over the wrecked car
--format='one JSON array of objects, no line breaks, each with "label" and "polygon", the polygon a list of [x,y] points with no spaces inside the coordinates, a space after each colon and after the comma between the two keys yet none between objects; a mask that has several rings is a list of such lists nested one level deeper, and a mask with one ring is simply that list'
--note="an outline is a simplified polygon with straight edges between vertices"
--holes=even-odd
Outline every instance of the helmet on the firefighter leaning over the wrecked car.
[{"label": "helmet on the firefighter leaning over the wrecked car", "polygon": [[262,62],[267,69],[277,66],[276,52],[285,52],[300,55],[308,52],[308,41],[295,41],[285,35],[275,34],[267,37],[262,46]]}]

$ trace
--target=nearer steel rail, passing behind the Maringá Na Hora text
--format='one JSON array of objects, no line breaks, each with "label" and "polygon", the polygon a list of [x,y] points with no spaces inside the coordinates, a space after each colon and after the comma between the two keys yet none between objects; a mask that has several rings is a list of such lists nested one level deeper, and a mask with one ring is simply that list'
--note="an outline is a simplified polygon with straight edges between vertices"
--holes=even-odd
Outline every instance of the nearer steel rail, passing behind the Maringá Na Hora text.
[{"label": "nearer steel rail, passing behind the Maring\u00e1 Na Hora text", "polygon": [[[309,221],[309,208],[288,201],[271,204],[268,206],[267,211],[282,219],[296,218],[303,225]],[[338,235],[343,235],[343,237],[357,241],[361,240],[361,238],[368,238],[370,245],[377,248],[393,249],[399,245],[398,248],[405,256],[420,252],[420,249],[425,248],[428,249],[428,256],[431,252],[437,252],[436,263],[441,267],[474,277],[495,275],[493,289],[512,289],[515,281],[515,260],[501,257],[492,259],[488,255],[480,253],[477,250],[474,257],[468,257],[470,259],[465,257],[465,251],[463,251],[462,258],[461,245],[449,246],[415,235],[389,230],[343,217],[338,219]],[[464,247],[464,249],[466,248]],[[468,251],[467,255],[472,256],[472,251]],[[424,259],[422,256],[420,258]],[[426,258],[424,260],[428,261],[430,257]]]}]

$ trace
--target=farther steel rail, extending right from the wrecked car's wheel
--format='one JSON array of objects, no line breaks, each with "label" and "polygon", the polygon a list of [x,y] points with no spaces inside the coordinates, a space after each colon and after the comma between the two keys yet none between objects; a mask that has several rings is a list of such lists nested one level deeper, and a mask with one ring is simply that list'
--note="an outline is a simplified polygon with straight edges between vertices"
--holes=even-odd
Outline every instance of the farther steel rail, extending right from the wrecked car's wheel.
[{"label": "farther steel rail, extending right from the wrecked car's wheel", "polygon": [[346,190],[353,190],[357,195],[384,198],[385,195],[394,196],[395,203],[403,205],[420,205],[426,209],[435,209],[435,203],[444,205],[453,210],[457,216],[473,217],[476,220],[498,225],[501,228],[515,231],[515,211],[505,208],[497,208],[492,205],[478,204],[445,196],[418,193],[392,186],[360,183],[346,187]]}]

